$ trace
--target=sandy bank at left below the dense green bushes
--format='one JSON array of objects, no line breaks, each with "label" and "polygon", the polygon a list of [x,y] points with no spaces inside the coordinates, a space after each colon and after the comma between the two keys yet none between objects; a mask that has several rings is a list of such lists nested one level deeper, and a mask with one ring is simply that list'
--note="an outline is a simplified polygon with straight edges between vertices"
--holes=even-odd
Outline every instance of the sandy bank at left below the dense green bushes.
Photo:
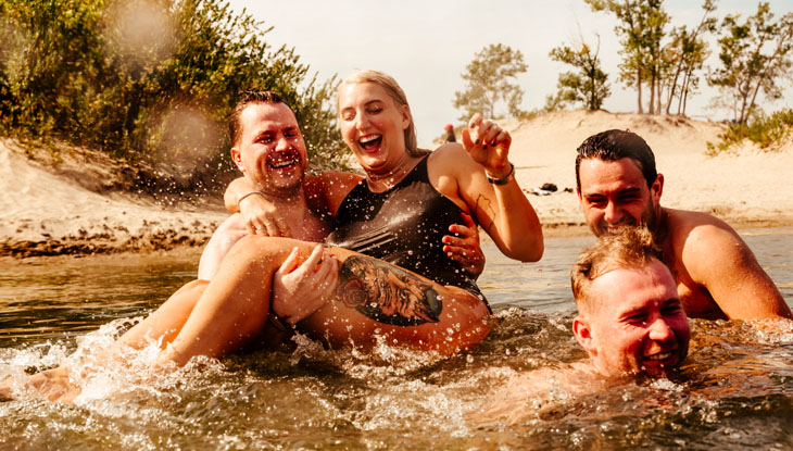
[{"label": "sandy bank at left below the dense green bushes", "polygon": [[80,167],[68,160],[55,167],[41,165],[12,142],[0,141],[0,255],[196,246],[205,242],[226,216],[221,211],[165,209],[118,193],[102,196],[85,186],[96,188],[112,175],[90,159],[79,163]]}]

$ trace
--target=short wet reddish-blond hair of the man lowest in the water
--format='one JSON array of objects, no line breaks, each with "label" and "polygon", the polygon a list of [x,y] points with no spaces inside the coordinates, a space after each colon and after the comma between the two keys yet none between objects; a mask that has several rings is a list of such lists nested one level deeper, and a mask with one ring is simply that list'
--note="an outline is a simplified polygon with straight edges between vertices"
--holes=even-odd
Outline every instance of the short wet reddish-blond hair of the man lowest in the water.
[{"label": "short wet reddish-blond hair of the man lowest in the water", "polygon": [[622,227],[617,234],[604,235],[578,255],[570,271],[572,297],[579,312],[596,308],[587,293],[597,277],[614,270],[639,270],[653,260],[663,262],[660,250],[644,227]]}]

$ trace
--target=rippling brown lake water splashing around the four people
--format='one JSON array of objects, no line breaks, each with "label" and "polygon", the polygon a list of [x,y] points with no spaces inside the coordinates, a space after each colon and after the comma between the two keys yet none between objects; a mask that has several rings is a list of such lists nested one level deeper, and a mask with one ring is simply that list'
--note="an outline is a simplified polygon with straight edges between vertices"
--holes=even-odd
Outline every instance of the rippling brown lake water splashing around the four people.
[{"label": "rippling brown lake water splashing around the four people", "polygon": [[[742,235],[793,304],[793,228]],[[0,449],[793,449],[793,334],[741,322],[692,321],[688,364],[671,379],[527,400],[515,424],[473,419],[514,378],[586,356],[570,333],[569,267],[591,242],[547,239],[536,264],[486,245],[480,286],[498,324],[451,359],[326,351],[299,338],[297,349],[152,374],[148,349],[79,377],[74,404],[0,402]],[[192,279],[197,261],[196,250],[0,259],[0,377],[90,364],[125,318]]]}]

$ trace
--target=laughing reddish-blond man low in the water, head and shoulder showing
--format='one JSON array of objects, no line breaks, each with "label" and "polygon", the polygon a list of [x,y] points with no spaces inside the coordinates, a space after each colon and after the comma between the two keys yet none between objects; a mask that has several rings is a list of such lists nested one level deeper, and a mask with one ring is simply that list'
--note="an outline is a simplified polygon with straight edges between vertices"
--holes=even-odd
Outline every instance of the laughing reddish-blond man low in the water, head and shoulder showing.
[{"label": "laughing reddish-blond man low in the water, head and shoulder showing", "polygon": [[645,228],[601,236],[578,256],[570,279],[578,308],[572,333],[589,360],[511,380],[474,419],[516,422],[529,405],[552,401],[558,390],[581,396],[637,376],[665,376],[685,359],[688,318]]}]

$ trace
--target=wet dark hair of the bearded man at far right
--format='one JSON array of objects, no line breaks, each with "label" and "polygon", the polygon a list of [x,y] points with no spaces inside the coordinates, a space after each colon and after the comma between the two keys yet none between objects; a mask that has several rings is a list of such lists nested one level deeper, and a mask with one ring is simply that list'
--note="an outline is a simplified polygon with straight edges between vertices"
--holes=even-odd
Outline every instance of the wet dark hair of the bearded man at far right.
[{"label": "wet dark hair of the bearded man at far right", "polygon": [[652,187],[658,176],[655,170],[655,155],[647,142],[641,136],[629,130],[606,130],[592,135],[584,139],[578,147],[576,156],[576,186],[581,190],[581,177],[579,170],[581,160],[599,159],[603,161],[617,161],[631,159],[639,165],[639,168],[647,180],[647,188]]}]

